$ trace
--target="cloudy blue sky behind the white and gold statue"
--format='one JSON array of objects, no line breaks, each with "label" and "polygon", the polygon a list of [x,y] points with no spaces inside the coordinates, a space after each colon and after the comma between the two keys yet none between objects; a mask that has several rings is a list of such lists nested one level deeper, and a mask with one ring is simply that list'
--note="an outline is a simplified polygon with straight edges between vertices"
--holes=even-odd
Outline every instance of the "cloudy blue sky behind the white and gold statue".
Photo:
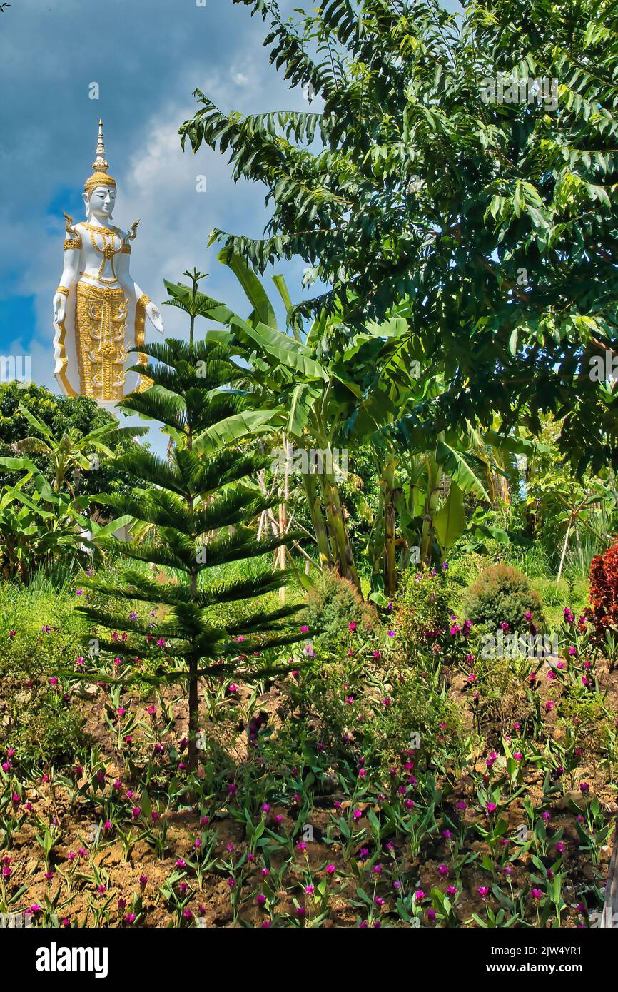
[{"label": "cloudy blue sky behind the white and gold statue", "polygon": [[[55,392],[62,210],[82,218],[99,116],[118,183],[114,222],[126,229],[141,218],[132,275],[144,292],[160,304],[164,278],[195,265],[210,273],[211,296],[246,311],[207,238],[213,227],[259,236],[265,190],[234,185],[218,153],[183,153],[178,129],[196,108],[195,86],[223,111],[308,104],[269,64],[261,18],[231,0],[201,2],[13,0],[0,15],[0,354],[31,355],[33,380]],[[295,6],[280,0],[283,13]],[[303,268],[281,267],[295,300]],[[163,312],[166,333],[184,333],[182,315]]]}]

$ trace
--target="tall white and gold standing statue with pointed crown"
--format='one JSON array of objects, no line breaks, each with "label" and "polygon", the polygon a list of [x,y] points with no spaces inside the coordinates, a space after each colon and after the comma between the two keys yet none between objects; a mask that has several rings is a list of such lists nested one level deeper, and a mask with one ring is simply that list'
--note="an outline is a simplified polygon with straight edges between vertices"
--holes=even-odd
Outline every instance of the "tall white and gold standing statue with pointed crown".
[{"label": "tall white and gold standing statue with pointed crown", "polygon": [[86,219],[72,223],[66,216],[62,280],[54,297],[55,375],[69,396],[88,396],[113,407],[150,381],[132,365],[146,364],[146,355],[128,354],[145,339],[145,318],[163,333],[158,308],[131,277],[129,232],[112,224],[116,182],[107,175],[102,122],[99,121],[93,175],[86,181]]}]

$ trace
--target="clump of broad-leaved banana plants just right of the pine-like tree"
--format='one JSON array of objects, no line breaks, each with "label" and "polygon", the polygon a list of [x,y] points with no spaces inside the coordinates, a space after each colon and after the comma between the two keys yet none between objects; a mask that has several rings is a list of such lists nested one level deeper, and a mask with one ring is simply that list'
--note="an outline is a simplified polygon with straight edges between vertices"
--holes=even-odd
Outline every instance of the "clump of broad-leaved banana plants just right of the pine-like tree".
[{"label": "clump of broad-leaved banana plants just right of the pine-like tree", "polygon": [[[253,415],[243,411],[242,418],[230,420],[229,436],[273,435],[281,429],[279,450],[291,449],[289,458],[280,459],[284,490],[290,464],[304,466],[300,475],[319,565],[336,567],[359,589],[336,454],[369,446],[378,501],[367,554],[372,596],[381,602],[381,592],[390,596],[396,590],[398,544],[400,567],[409,566],[413,548],[420,553],[416,561],[439,560],[466,529],[464,494],[489,502],[482,478],[491,480],[496,466],[485,451],[487,442],[471,425],[436,434],[441,383],[421,373],[421,363],[411,358],[418,351],[411,352],[407,305],[380,324],[369,321],[351,340],[337,314],[314,318],[305,331],[294,322],[285,281],[276,276],[287,307],[282,330],[264,286],[244,259],[221,253],[220,261],[234,271],[252,307],[243,318],[222,304],[200,300],[200,315],[228,328],[209,331],[207,337],[241,356],[249,368],[243,386]],[[169,289],[180,298],[188,292],[182,285]],[[496,432],[492,438],[506,442]],[[293,457],[316,451],[320,457],[312,465],[307,457],[298,463]],[[440,500],[440,494],[445,498]],[[473,530],[478,533],[482,526],[475,518]],[[506,539],[495,529],[491,536]]]}]

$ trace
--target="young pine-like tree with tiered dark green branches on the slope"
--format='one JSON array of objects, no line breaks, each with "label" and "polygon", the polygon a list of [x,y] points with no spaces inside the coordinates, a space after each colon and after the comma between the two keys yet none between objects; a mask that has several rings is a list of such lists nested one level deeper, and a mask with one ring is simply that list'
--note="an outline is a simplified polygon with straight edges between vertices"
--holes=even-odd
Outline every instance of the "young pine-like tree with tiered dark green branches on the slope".
[{"label": "young pine-like tree with tiered dark green branches on the slope", "polygon": [[[112,587],[96,578],[82,583],[115,599],[158,604],[164,609],[156,616],[163,618],[149,624],[130,619],[128,610],[116,615],[85,606],[80,612],[104,627],[127,632],[124,642],[101,641],[102,651],[135,657],[136,638],[141,644],[146,636],[165,642],[172,666],[162,678],[187,683],[190,774],[197,765],[199,679],[250,674],[247,659],[253,652],[294,643],[301,635],[289,622],[298,606],[254,611],[229,623],[212,618],[211,607],[260,596],[287,583],[292,573],[274,571],[268,562],[258,564],[250,575],[209,582],[209,569],[266,556],[297,535],[257,540],[251,524],[277,497],[265,499],[251,482],[251,476],[264,467],[264,457],[234,443],[233,425],[242,417],[246,401],[233,384],[246,376],[246,369],[235,365],[218,344],[193,341],[195,316],[214,302],[197,292],[203,278],[199,273],[185,275],[191,287],[175,286],[169,303],[188,314],[189,341],[168,338],[165,343],[140,345],[150,361],[147,367],[135,369],[153,385],[122,404],[127,411],[165,425],[174,441],[170,456],[165,460],[143,447],[121,455],[115,465],[132,475],[138,488],[130,495],[95,497],[98,503],[150,525],[148,541],[110,538],[106,547],[123,558],[165,568],[169,580],[162,584],[148,569],[133,566],[124,568]],[[144,481],[150,488],[139,488]]]}]

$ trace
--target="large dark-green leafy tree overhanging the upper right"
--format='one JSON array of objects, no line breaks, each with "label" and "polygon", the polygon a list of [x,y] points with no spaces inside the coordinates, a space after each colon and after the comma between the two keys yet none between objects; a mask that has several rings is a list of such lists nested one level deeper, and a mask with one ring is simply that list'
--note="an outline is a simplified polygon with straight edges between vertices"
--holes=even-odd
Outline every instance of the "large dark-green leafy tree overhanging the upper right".
[{"label": "large dark-green leafy tree overhanging the upper right", "polygon": [[[293,18],[236,2],[321,106],[227,114],[195,91],[184,146],[228,152],[272,204],[265,237],[213,238],[260,271],[303,258],[323,286],[305,310],[340,313],[350,336],[407,301],[443,376],[437,430],[498,414],[536,433],[549,412],[579,469],[618,462],[616,390],[589,375],[618,326],[615,4],[481,0],[458,24],[437,0],[332,0]],[[524,98],[492,97],[499,74]]]}]

